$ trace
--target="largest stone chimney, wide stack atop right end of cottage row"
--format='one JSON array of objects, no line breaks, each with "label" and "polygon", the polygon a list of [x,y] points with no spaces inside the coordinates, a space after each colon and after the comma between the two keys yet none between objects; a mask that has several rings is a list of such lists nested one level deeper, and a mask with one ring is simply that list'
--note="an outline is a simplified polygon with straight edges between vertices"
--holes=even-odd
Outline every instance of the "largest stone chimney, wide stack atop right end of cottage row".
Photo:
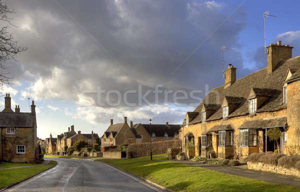
[{"label": "largest stone chimney, wide stack atop right end of cottage row", "polygon": [[293,47],[286,45],[281,45],[281,40],[278,40],[275,44],[270,44],[267,47],[267,73],[272,73],[278,63],[283,60],[291,58],[291,49]]}]

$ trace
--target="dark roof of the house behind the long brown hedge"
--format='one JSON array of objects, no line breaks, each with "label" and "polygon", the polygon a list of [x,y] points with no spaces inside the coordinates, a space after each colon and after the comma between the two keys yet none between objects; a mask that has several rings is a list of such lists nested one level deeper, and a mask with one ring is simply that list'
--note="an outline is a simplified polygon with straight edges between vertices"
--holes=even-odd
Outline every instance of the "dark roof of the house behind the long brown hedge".
[{"label": "dark roof of the house behind the long brown hedge", "polygon": [[[146,131],[150,134],[150,125],[149,124],[141,124]],[[180,124],[151,124],[151,132],[155,133],[156,137],[163,137],[166,132],[168,136],[174,136],[174,134],[178,134],[180,129]]]}]

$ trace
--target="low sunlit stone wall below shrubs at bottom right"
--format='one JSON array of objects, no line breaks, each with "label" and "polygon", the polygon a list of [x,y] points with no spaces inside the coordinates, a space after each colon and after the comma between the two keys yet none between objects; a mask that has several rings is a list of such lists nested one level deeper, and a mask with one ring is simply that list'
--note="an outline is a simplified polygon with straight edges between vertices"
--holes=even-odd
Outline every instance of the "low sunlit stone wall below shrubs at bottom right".
[{"label": "low sunlit stone wall below shrubs at bottom right", "polygon": [[300,170],[295,168],[284,168],[277,165],[264,164],[262,162],[250,162],[250,161],[247,162],[247,165],[248,165],[248,169],[262,170],[262,171],[275,172],[279,174],[300,177]]}]

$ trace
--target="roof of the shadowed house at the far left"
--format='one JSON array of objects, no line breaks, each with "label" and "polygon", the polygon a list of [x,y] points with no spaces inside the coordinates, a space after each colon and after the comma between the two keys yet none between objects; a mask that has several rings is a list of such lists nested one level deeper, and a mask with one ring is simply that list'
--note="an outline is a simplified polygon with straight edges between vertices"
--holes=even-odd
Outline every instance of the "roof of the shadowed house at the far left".
[{"label": "roof of the shadowed house at the far left", "polygon": [[0,112],[0,127],[33,127],[30,112]]}]

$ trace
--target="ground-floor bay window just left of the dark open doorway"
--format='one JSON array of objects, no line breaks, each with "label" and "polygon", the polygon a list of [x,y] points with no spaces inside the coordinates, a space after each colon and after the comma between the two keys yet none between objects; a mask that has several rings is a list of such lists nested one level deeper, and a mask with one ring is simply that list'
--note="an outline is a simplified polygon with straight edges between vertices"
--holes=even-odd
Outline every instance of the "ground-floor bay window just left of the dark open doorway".
[{"label": "ground-floor bay window just left of the dark open doorway", "polygon": [[240,146],[257,146],[257,129],[240,129]]}]

